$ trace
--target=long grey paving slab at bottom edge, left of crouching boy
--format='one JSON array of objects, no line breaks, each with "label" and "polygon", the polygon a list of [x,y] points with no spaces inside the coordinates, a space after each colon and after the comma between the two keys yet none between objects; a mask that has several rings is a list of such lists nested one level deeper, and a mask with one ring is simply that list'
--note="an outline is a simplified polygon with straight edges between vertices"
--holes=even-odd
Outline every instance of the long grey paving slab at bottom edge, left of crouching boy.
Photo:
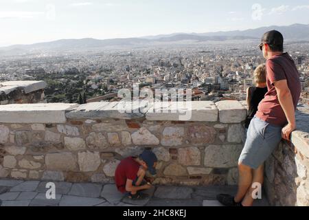
[{"label": "long grey paving slab at bottom edge, left of crouching boy", "polygon": [[60,200],[59,206],[95,206],[103,203],[104,199],[76,197],[71,195],[64,195]]}]

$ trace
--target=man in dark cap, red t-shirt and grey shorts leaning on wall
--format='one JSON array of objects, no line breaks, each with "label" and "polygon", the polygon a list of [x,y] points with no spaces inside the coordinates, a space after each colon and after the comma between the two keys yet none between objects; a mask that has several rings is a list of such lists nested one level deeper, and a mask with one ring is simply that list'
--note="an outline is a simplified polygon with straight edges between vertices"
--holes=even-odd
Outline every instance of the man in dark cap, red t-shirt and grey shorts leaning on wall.
[{"label": "man in dark cap, red t-shirt and grey shorts leaning on wall", "polygon": [[217,196],[225,206],[253,205],[253,191],[263,183],[264,162],[282,138],[290,140],[290,133],[296,129],[295,110],[301,83],[293,59],[283,52],[284,37],[276,30],[266,32],[259,47],[267,60],[268,92],[247,131],[247,140],[238,161],[238,192],[234,197]]}]

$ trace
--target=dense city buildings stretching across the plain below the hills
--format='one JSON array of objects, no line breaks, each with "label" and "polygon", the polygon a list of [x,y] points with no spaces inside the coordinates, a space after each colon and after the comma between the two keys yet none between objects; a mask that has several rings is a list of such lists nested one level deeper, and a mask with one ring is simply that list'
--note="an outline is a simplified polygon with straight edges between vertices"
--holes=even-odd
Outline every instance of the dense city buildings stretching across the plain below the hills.
[{"label": "dense city buildings stretching across the plain below the hills", "polygon": [[[308,103],[309,43],[285,51],[301,74]],[[192,89],[193,100],[244,100],[252,74],[264,63],[256,41],[162,44],[115,50],[34,53],[0,58],[0,81],[44,80],[47,102],[117,100],[119,89]]]}]

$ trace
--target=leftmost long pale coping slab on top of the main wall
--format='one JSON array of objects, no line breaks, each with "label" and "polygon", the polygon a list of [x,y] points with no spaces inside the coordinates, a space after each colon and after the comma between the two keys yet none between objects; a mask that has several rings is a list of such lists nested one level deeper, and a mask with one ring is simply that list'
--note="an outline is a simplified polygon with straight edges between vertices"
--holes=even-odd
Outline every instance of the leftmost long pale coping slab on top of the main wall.
[{"label": "leftmost long pale coping slab on top of the main wall", "polygon": [[65,110],[76,107],[68,103],[0,105],[0,123],[65,123]]}]

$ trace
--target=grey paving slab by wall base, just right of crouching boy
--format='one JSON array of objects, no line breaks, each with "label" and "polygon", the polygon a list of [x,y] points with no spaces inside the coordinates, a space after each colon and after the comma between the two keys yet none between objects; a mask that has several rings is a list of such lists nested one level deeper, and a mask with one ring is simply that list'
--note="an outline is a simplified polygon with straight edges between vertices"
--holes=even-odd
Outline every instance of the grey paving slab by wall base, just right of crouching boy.
[{"label": "grey paving slab by wall base, just right of crouching boy", "polygon": [[155,197],[159,199],[191,199],[193,190],[189,187],[159,186]]}]

